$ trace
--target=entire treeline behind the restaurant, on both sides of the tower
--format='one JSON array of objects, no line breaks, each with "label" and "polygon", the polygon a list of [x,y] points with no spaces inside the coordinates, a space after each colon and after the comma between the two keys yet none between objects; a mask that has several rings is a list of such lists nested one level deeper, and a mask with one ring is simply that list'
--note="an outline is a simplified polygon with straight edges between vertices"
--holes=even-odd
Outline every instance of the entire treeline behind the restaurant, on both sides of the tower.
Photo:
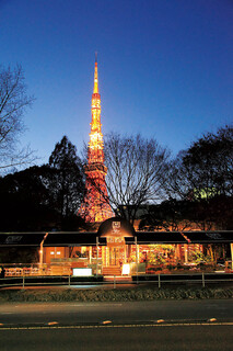
[{"label": "entire treeline behind the restaurant, on both sides of the tower", "polygon": [[[105,139],[106,184],[114,212],[140,228],[177,229],[198,224],[233,228],[233,128],[194,141],[174,159],[155,139]],[[84,194],[83,161],[65,136],[48,163],[0,178],[0,230],[77,230]]]}]

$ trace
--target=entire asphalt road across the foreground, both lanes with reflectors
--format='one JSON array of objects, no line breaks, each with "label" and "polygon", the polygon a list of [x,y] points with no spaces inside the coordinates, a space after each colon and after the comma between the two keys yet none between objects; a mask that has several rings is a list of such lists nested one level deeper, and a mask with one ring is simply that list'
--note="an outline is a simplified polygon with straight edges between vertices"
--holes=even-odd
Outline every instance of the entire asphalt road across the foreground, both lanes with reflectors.
[{"label": "entire asphalt road across the foreground, both lanes with reflectors", "polygon": [[0,305],[1,351],[230,351],[232,344],[231,299]]}]

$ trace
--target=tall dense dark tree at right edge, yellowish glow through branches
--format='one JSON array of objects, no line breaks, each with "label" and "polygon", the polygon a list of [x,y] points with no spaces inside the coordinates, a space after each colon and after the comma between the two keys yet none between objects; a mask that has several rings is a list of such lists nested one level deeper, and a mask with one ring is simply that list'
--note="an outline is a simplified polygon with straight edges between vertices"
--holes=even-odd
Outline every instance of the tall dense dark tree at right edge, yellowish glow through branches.
[{"label": "tall dense dark tree at right edge, yellowish glow through branches", "polygon": [[171,162],[165,188],[171,199],[197,202],[195,216],[202,229],[211,223],[231,228],[233,127],[208,133],[179,152]]}]

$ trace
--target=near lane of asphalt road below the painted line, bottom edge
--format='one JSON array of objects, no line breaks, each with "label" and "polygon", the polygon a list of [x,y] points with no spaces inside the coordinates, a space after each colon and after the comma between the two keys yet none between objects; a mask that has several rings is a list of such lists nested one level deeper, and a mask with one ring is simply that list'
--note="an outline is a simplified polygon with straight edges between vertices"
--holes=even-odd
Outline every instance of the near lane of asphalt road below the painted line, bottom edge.
[{"label": "near lane of asphalt road below the painted line, bottom edge", "polygon": [[0,350],[232,351],[232,336],[225,325],[0,330]]}]

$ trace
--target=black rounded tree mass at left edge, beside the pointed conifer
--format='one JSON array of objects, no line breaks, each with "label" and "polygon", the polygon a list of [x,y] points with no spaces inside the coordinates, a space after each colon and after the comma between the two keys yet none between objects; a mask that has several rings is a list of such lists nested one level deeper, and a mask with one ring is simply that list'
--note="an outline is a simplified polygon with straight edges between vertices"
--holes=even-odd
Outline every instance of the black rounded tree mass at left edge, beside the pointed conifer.
[{"label": "black rounded tree mass at left edge, beside the pointed conifer", "polygon": [[31,167],[0,178],[0,230],[51,229],[58,214],[49,207],[49,192],[44,180],[46,166]]}]

